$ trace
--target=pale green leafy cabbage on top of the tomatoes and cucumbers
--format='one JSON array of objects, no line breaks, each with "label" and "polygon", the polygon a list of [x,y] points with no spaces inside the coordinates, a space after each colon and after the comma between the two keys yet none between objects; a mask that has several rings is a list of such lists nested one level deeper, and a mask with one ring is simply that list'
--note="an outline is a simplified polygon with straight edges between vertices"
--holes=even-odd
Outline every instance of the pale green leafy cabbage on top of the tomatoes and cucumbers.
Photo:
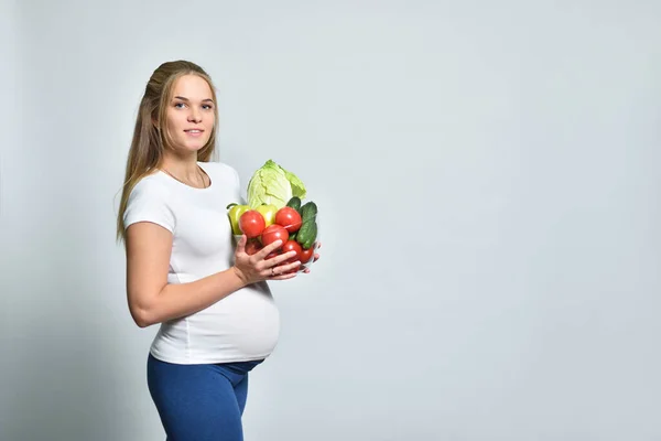
[{"label": "pale green leafy cabbage on top of the tomatoes and cucumbers", "polygon": [[248,205],[257,208],[261,204],[272,204],[282,208],[293,197],[305,197],[303,182],[292,172],[268,160],[256,170],[248,183]]}]

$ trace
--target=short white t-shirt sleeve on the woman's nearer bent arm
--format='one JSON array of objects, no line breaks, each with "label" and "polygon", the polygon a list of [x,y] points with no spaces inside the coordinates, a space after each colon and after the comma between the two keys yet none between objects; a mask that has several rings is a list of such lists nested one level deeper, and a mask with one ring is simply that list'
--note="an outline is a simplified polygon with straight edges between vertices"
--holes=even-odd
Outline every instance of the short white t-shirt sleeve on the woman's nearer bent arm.
[{"label": "short white t-shirt sleeve on the woman's nearer bent arm", "polygon": [[175,218],[167,196],[160,187],[139,182],[129,196],[123,215],[124,228],[137,222],[151,222],[174,233]]}]

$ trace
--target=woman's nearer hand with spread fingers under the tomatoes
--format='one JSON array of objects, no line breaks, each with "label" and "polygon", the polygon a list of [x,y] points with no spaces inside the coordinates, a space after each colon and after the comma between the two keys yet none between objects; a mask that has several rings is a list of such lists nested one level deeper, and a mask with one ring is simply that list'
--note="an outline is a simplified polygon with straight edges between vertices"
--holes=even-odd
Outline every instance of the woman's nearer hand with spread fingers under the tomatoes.
[{"label": "woman's nearer hand with spread fingers under the tomatoes", "polygon": [[284,261],[296,256],[296,251],[289,251],[270,259],[267,256],[282,246],[282,240],[270,244],[252,256],[246,252],[248,237],[242,235],[235,251],[234,270],[246,284],[262,280],[285,280],[296,277],[296,270],[301,261],[282,265]]}]

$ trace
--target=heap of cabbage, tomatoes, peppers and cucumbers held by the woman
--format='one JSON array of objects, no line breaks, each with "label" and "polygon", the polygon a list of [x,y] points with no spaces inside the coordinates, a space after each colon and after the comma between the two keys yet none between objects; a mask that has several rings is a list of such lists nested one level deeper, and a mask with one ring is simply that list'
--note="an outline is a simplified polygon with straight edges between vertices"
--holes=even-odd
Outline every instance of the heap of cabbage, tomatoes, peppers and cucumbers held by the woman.
[{"label": "heap of cabbage, tomatoes, peppers and cucumbers held by the woman", "polygon": [[310,268],[318,248],[319,224],[317,204],[306,200],[306,195],[297,176],[267,161],[248,184],[248,203],[232,203],[227,207],[235,241],[246,235],[246,252],[253,255],[282,240],[282,246],[267,259],[295,251],[284,265],[300,260],[299,272]]}]

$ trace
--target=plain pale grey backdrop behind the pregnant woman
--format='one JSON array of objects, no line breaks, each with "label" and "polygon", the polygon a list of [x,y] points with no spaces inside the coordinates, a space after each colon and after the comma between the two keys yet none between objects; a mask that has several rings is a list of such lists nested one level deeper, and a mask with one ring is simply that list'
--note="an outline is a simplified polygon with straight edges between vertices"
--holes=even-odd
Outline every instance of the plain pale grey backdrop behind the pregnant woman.
[{"label": "plain pale grey backdrop behind the pregnant woman", "polygon": [[161,63],[273,159],[322,260],[272,283],[247,441],[661,440],[661,3],[4,1],[0,440],[164,439],[115,215]]}]

